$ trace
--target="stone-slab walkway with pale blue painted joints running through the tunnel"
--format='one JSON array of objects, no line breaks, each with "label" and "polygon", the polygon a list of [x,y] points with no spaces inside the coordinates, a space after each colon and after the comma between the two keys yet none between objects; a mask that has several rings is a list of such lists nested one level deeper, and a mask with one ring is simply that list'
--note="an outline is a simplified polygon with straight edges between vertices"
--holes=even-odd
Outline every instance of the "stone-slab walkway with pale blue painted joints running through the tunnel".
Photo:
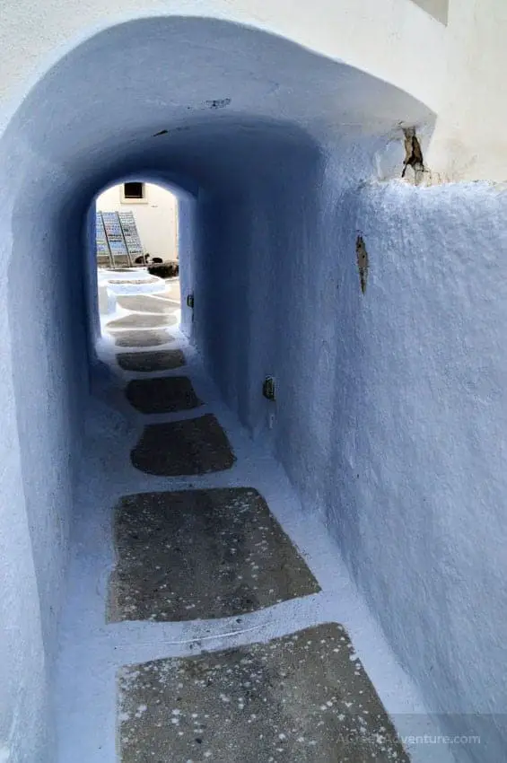
[{"label": "stone-slab walkway with pale blue painted joints running through the tunnel", "polygon": [[354,601],[378,634],[324,528],[217,401],[174,286],[118,303],[74,531],[60,763],[407,761],[339,610]]}]

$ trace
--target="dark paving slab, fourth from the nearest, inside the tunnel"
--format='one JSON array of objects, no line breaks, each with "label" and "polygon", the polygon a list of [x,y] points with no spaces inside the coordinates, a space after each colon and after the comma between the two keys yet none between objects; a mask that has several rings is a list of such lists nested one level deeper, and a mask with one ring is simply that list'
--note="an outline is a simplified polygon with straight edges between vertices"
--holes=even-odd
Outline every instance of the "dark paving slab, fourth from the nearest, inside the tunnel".
[{"label": "dark paving slab, fourth from the nearest, inside the tunnel", "polygon": [[174,413],[202,406],[187,376],[133,379],[125,390],[128,402],[141,413]]}]

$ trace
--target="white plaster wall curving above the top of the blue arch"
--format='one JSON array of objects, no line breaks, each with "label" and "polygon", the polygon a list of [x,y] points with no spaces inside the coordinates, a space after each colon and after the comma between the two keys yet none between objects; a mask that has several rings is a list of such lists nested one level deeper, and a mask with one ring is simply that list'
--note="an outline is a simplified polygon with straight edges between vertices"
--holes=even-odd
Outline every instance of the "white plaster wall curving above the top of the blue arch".
[{"label": "white plaster wall curving above the top of the blue arch", "polygon": [[[17,0],[4,9],[0,41],[5,50],[13,50],[12,57],[3,58],[0,69],[0,97],[8,104],[7,114],[30,84],[76,43],[114,24],[158,15],[210,17],[250,25],[375,72],[430,105],[438,97],[435,83],[439,82],[444,36],[440,25],[421,14],[410,0],[361,0],[359,4],[357,0],[340,4],[319,0],[318,5],[301,4],[296,9],[293,4],[268,0],[235,4],[228,0],[200,0],[197,4],[191,0],[144,0],[143,4],[123,0],[109,3],[106,9],[100,0],[69,0],[64,15],[55,0],[30,6],[30,13],[27,7],[24,0]],[[414,45],[409,32],[415,28],[424,46]],[[432,50],[431,57],[426,55],[427,49]],[[400,59],[404,66],[399,66]],[[176,72],[178,69],[170,70],[171,76]],[[103,67],[101,74],[107,78],[117,73],[118,67]]]}]

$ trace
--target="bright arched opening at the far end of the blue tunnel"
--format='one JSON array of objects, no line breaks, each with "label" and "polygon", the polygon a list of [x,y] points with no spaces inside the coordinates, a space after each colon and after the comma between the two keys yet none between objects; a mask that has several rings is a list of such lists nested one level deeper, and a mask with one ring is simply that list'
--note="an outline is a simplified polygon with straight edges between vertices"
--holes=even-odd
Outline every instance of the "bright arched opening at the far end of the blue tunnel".
[{"label": "bright arched opening at the far end of the blue tunnel", "polygon": [[97,339],[121,344],[133,330],[179,326],[179,252],[188,249],[181,194],[142,178],[117,180],[95,197],[89,261]]}]

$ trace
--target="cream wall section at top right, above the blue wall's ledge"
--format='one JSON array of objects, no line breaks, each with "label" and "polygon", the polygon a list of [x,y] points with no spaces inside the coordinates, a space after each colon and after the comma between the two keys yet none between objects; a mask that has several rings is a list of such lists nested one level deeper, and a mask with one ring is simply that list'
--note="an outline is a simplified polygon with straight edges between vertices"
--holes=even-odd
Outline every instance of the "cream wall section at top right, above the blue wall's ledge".
[{"label": "cream wall section at top right, above the blue wall's ledge", "polygon": [[443,180],[507,179],[507,2],[450,0],[445,90],[427,161]]}]

